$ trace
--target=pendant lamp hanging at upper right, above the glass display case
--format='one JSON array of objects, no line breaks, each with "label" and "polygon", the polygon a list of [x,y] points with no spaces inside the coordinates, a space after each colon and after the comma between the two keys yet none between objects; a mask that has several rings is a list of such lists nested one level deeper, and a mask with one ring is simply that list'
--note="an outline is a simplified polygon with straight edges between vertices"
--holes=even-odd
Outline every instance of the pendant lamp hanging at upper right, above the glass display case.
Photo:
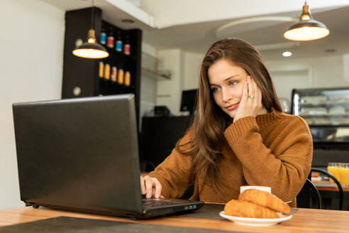
[{"label": "pendant lamp hanging at upper right, above the glass display case", "polygon": [[299,22],[289,27],[284,33],[284,38],[296,41],[318,40],[328,36],[329,33],[325,24],[313,19],[305,1]]}]

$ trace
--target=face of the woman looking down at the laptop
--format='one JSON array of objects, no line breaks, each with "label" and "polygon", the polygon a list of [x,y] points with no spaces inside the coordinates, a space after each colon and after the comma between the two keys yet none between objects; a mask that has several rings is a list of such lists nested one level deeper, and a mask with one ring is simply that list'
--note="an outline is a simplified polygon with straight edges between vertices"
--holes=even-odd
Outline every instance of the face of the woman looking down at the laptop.
[{"label": "face of the woman looking down at the laptop", "polygon": [[209,67],[208,73],[214,101],[223,112],[234,118],[248,73],[242,67],[226,59],[216,61]]}]

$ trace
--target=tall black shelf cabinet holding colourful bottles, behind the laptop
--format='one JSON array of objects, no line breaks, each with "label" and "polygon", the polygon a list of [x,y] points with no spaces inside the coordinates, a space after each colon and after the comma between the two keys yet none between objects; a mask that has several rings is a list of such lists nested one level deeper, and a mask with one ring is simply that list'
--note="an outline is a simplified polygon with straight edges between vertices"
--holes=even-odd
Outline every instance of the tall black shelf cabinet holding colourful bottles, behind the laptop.
[{"label": "tall black shelf cabinet holding colourful bottles, behind the laptop", "polygon": [[[78,58],[72,54],[76,47],[77,39],[86,41],[87,31],[92,28],[92,8],[67,11],[65,13],[65,48],[63,61],[63,82],[62,98],[92,97],[110,94],[135,94],[135,110],[137,119],[140,103],[140,58],[142,31],[139,29],[123,30],[113,26],[111,23],[103,21],[101,9],[94,7],[94,30],[96,39],[100,43],[102,28],[109,36],[113,31],[113,36],[120,33],[123,41],[128,38],[131,45],[131,54],[125,55],[116,51],[115,48],[106,47],[109,57],[104,59]],[[115,45],[114,45],[115,46]],[[112,82],[99,77],[99,64],[109,64],[110,73],[112,67],[123,70],[125,74],[130,73],[131,82],[129,85]]]}]

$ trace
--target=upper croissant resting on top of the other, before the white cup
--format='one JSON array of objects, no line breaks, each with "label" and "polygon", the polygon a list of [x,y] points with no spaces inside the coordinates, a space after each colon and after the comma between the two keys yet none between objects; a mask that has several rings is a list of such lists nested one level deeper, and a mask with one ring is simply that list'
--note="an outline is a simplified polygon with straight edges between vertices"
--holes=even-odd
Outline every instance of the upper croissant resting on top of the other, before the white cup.
[{"label": "upper croissant resting on top of the other, before the white cup", "polygon": [[284,215],[291,215],[289,205],[285,204],[279,197],[262,190],[245,190],[243,193],[240,193],[239,200],[253,202],[276,212],[281,212]]}]

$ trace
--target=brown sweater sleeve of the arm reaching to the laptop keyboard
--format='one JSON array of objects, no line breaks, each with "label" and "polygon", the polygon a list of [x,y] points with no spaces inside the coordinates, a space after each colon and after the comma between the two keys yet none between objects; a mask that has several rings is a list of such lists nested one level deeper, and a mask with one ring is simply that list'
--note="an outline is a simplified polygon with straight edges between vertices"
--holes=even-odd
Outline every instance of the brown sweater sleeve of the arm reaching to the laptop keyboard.
[{"label": "brown sweater sleeve of the arm reaching to the laptop keyboard", "polygon": [[[190,138],[187,133],[180,143],[187,143]],[[157,178],[162,185],[161,194],[167,198],[182,197],[191,182],[192,158],[191,156],[179,153],[176,148],[172,150],[170,156],[160,163],[150,177]]]}]

